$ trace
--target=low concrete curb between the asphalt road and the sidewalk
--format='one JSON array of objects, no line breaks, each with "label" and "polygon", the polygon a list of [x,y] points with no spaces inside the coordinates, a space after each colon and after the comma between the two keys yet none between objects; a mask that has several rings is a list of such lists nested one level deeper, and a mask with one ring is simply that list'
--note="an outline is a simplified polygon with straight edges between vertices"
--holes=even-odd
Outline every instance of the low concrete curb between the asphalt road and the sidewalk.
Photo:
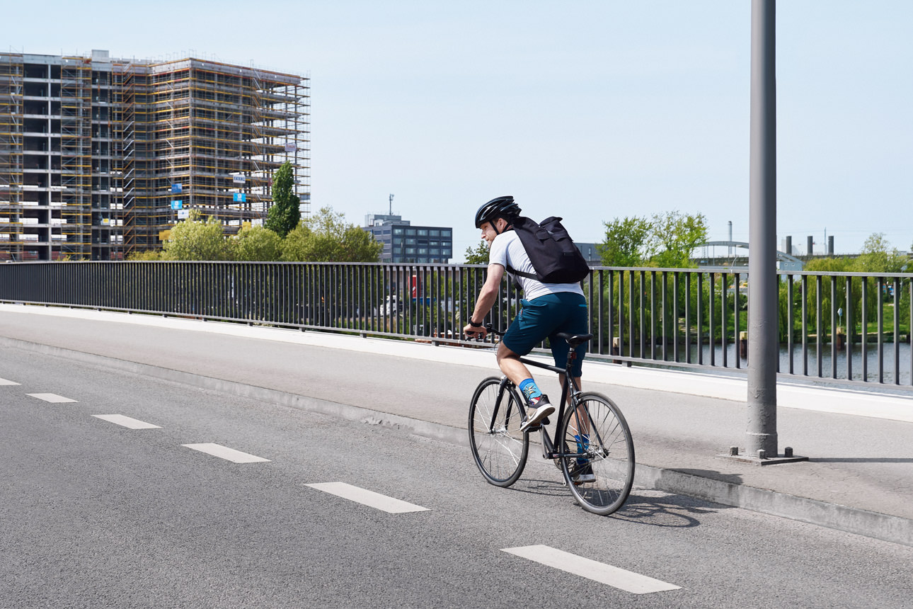
[{"label": "low concrete curb between the asphalt road and the sidewalk", "polygon": [[[368,408],[321,400],[300,394],[216,379],[202,374],[131,362],[95,353],[78,352],[36,342],[0,337],[0,345],[26,351],[65,357],[76,362],[101,365],[126,373],[141,374],[152,378],[183,383],[225,394],[238,395],[253,400],[280,404],[308,412],[336,416],[348,421],[402,431],[415,436],[441,440],[457,446],[468,446],[467,431],[400,415],[389,415]],[[748,487],[713,478],[695,476],[675,469],[637,464],[635,485],[655,488],[752,511],[799,520],[829,529],[864,535],[877,540],[890,541],[913,547],[913,520],[891,516],[867,509],[851,508],[815,499],[778,493],[764,488]]]}]

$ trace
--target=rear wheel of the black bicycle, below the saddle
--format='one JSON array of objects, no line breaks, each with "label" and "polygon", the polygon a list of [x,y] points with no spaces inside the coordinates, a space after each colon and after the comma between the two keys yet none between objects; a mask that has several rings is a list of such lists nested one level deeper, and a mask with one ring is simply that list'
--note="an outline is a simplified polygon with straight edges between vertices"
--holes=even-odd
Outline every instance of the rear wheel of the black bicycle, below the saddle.
[{"label": "rear wheel of the black bicycle, below the saddle", "polygon": [[583,509],[602,516],[624,505],[634,485],[634,440],[622,411],[600,394],[582,394],[561,425],[561,472]]}]

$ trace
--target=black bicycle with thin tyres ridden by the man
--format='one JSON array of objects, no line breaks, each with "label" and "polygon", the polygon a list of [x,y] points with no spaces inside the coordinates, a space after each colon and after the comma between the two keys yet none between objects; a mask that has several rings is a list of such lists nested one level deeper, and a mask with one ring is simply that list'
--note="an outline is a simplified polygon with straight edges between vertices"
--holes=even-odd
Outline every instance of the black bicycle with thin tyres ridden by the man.
[{"label": "black bicycle with thin tyres ridden by the man", "polygon": [[[487,330],[497,336],[491,324]],[[538,426],[542,457],[553,459],[564,475],[565,485],[583,509],[594,514],[611,514],[624,505],[634,484],[635,456],[631,430],[621,410],[602,394],[582,393],[571,369],[574,349],[590,341],[593,334],[561,333],[570,345],[564,369],[520,358],[528,366],[564,374],[561,405],[555,428],[556,446],[545,425]],[[565,409],[568,396],[572,407]],[[526,405],[506,376],[489,376],[478,384],[469,404],[469,446],[482,476],[497,487],[509,487],[526,467],[530,451],[530,428],[520,432],[526,420]]]}]

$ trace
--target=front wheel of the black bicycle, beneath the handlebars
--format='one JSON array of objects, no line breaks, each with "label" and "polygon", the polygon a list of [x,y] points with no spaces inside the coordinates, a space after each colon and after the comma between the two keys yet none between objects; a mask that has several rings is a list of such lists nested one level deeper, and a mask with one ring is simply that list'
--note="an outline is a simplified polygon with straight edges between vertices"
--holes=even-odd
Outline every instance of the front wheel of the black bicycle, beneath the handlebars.
[{"label": "front wheel of the black bicycle, beneath the handlebars", "polygon": [[[519,479],[530,452],[530,437],[519,430],[519,398],[495,376],[478,383],[469,404],[469,446],[489,483],[509,487]],[[500,394],[500,395],[498,395]]]}]

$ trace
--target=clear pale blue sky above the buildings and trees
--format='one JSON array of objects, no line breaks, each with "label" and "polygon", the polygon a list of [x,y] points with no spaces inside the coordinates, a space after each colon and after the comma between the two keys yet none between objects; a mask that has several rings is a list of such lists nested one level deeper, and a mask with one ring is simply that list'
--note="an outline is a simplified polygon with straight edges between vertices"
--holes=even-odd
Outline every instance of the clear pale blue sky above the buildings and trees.
[{"label": "clear pale blue sky above the buildings and trees", "polygon": [[[311,78],[311,191],[477,243],[513,194],[603,221],[703,213],[747,241],[750,0],[261,0],[7,5],[4,50],[218,58]],[[913,245],[913,3],[777,5],[778,244]]]}]

